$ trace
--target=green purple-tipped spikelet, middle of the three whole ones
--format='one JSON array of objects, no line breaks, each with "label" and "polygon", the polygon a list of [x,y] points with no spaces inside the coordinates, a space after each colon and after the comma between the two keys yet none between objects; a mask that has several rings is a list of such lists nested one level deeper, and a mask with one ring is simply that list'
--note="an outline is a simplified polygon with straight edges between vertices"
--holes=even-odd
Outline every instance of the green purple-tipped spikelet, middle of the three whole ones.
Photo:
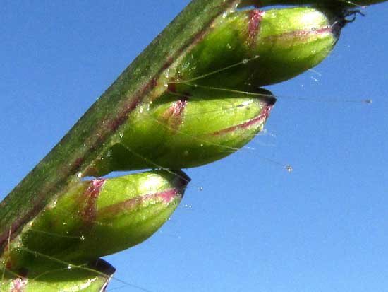
[{"label": "green purple-tipped spikelet, middle of the three whole ones", "polygon": [[224,158],[262,130],[275,99],[267,90],[257,90],[257,95],[208,88],[191,88],[190,95],[178,100],[165,94],[133,113],[87,175],[190,168]]}]

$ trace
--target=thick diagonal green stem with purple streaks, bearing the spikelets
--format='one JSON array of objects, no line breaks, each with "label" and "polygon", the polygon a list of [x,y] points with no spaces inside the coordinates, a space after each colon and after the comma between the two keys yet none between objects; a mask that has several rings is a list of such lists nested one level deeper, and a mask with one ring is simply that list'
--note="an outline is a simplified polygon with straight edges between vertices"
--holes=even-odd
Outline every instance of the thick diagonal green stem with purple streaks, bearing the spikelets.
[{"label": "thick diagonal green stem with purple streaks, bearing the spikelets", "polygon": [[54,197],[80,180],[155,80],[206,28],[238,0],[194,0],[123,71],[51,152],[0,204],[0,248]]}]

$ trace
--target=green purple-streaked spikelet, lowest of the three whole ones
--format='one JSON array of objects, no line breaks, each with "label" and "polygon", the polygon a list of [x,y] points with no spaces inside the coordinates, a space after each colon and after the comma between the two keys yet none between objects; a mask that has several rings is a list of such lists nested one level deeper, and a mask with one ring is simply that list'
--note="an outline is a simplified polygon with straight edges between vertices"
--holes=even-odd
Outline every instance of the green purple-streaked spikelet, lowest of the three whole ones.
[{"label": "green purple-streaked spikelet, lowest of the three whole ones", "polygon": [[28,265],[25,250],[85,262],[137,245],[167,221],[189,180],[160,170],[77,182],[14,240],[9,264]]}]

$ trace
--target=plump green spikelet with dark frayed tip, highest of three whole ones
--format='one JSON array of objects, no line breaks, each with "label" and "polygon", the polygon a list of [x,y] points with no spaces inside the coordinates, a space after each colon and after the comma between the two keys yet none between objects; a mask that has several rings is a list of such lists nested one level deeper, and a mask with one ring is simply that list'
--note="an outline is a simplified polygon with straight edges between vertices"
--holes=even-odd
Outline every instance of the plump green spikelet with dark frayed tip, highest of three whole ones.
[{"label": "plump green spikelet with dark frayed tip, highest of three whole ones", "polygon": [[278,83],[322,62],[345,23],[341,12],[320,8],[237,11],[214,23],[170,73],[181,82],[179,92],[187,90],[185,83],[227,88]]}]

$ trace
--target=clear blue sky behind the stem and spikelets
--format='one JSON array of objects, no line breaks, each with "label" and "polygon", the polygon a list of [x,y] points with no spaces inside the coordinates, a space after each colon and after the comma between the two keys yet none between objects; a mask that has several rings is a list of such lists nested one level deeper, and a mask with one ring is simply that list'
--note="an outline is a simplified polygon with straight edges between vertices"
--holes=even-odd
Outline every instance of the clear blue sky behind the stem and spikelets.
[{"label": "clear blue sky behind the stem and spikelets", "polygon": [[[1,4],[1,198],[186,4]],[[388,4],[365,12],[314,71],[269,87],[266,134],[186,170],[171,220],[107,257],[117,279],[160,292],[387,291]]]}]

